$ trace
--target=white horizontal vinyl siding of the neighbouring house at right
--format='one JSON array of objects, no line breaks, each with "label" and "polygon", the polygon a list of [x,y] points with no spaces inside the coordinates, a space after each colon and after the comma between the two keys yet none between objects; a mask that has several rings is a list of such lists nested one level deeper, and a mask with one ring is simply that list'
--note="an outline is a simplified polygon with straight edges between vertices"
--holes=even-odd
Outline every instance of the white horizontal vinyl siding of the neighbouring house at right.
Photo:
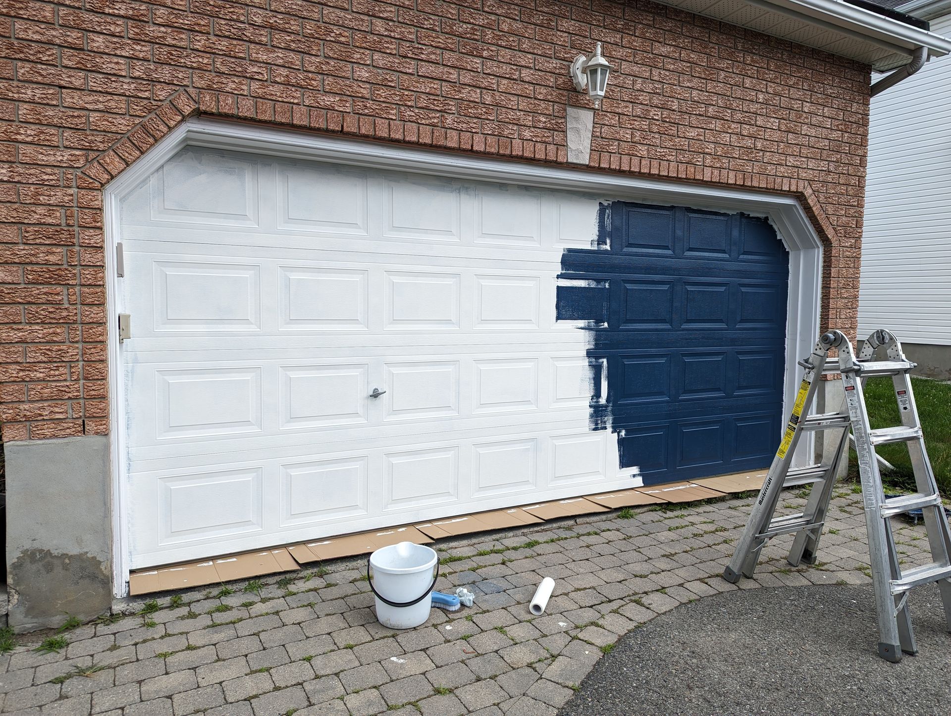
[{"label": "white horizontal vinyl siding of the neighbouring house at right", "polygon": [[[931,22],[951,35],[951,15]],[[872,98],[859,339],[951,344],[951,59]]]}]

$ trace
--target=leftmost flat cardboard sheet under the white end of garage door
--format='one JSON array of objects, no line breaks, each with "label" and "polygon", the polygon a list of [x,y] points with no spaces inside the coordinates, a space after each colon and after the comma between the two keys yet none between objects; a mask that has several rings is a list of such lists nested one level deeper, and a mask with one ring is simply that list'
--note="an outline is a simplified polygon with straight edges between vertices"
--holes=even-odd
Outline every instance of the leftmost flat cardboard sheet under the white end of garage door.
[{"label": "leftmost flat cardboard sheet under the white end of garage door", "polygon": [[280,547],[214,557],[155,570],[133,571],[128,575],[128,591],[132,596],[136,596],[155,591],[184,590],[188,587],[221,584],[232,579],[300,569],[287,550]]}]

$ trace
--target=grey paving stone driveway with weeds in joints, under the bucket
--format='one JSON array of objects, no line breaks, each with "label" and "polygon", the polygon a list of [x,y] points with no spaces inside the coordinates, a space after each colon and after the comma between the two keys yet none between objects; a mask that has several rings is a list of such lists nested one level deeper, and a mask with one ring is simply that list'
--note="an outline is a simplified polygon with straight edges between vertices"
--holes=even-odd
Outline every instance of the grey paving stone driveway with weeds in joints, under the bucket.
[{"label": "grey paving stone driveway with weeds in joints, under the bucket", "polygon": [[[476,607],[433,610],[407,631],[377,623],[358,560],[126,603],[139,613],[65,632],[58,652],[32,644],[0,657],[0,704],[4,713],[109,716],[547,716],[619,635],[658,613],[728,590],[869,581],[861,494],[844,485],[824,563],[790,570],[786,536],[764,550],[755,580],[728,584],[719,575],[750,502],[440,541],[438,589],[473,585]],[[796,512],[805,500],[786,492],[781,504]],[[910,525],[896,532],[908,562],[927,559],[922,535]],[[528,602],[542,576],[554,578],[555,592],[533,618]]]}]

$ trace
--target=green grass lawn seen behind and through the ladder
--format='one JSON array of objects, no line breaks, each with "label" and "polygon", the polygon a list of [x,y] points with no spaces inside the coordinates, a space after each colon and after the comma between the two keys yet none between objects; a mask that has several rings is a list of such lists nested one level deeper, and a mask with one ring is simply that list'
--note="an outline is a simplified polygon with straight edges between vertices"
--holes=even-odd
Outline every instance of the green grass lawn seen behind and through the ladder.
[{"label": "green grass lawn seen behind and through the ladder", "polygon": [[[924,444],[931,460],[931,468],[938,480],[938,489],[951,497],[951,385],[938,380],[912,377],[912,389],[922,420]],[[870,377],[865,384],[865,405],[868,406],[868,421],[872,429],[901,425],[898,403],[890,377]],[[895,466],[894,472],[883,472],[887,486],[914,492],[915,476],[911,472],[911,459],[905,443],[880,445],[876,451]],[[849,474],[858,477],[855,451],[849,455]]]}]

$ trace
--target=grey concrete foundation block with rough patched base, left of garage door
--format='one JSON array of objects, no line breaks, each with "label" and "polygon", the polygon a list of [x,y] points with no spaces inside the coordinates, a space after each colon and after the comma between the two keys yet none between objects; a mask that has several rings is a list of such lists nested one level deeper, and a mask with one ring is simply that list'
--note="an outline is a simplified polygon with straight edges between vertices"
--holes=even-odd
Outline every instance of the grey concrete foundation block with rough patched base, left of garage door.
[{"label": "grey concrete foundation block with rough patched base, left of garage door", "polygon": [[103,435],[8,442],[7,584],[16,631],[91,619],[112,602],[109,445]]}]

